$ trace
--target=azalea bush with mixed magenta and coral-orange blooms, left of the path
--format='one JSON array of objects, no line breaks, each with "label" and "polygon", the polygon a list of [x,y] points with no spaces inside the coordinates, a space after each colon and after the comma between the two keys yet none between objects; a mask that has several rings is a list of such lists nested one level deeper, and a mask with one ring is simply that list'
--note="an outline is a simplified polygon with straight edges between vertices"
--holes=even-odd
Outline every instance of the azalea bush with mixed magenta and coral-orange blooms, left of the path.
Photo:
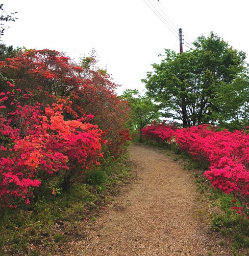
[{"label": "azalea bush with mixed magenta and coral-orange blooms, left of the path", "polygon": [[[81,119],[65,121],[63,104],[43,108],[41,103],[21,104],[29,97],[14,89],[0,93],[0,202],[15,207],[30,203],[33,187],[59,174],[63,189],[103,157],[104,133]],[[11,111],[9,111],[11,109]]]}]

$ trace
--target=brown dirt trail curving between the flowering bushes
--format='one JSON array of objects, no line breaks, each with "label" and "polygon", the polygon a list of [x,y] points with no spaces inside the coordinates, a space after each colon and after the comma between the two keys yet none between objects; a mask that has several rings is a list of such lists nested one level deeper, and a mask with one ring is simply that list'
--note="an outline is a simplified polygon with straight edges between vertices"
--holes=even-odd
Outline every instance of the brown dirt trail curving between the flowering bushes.
[{"label": "brown dirt trail curving between the flowering bushes", "polygon": [[73,243],[70,255],[232,255],[200,219],[207,209],[190,172],[155,148],[132,145],[130,152],[136,178],[86,227],[86,240]]}]

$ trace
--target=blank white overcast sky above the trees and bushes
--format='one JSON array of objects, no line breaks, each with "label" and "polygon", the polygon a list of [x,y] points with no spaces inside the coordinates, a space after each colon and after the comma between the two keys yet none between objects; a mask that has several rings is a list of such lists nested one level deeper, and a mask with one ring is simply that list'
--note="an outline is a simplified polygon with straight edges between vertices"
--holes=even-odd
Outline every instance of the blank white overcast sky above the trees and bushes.
[{"label": "blank white overcast sky above the trees and bushes", "polygon": [[[6,23],[10,28],[1,38],[6,45],[58,50],[71,58],[87,55],[94,48],[100,60],[98,66],[107,68],[113,81],[121,84],[118,94],[125,89],[144,89],[140,80],[152,70],[152,63],[160,62],[158,55],[165,48],[179,51],[179,28],[186,42],[208,36],[213,30],[234,49],[249,54],[248,0],[2,0],[1,3],[6,13],[18,12],[15,23]],[[171,24],[176,35],[146,3],[160,6],[176,26]],[[186,42],[184,51],[189,46]]]}]

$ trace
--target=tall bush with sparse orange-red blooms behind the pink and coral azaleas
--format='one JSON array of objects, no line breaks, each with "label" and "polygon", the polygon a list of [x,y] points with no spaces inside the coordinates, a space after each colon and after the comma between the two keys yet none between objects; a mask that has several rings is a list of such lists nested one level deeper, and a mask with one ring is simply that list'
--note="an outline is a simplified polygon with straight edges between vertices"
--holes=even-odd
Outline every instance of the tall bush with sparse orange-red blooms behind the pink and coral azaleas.
[{"label": "tall bush with sparse orange-red blooms behind the pink and coral azaleas", "polygon": [[[94,119],[89,122],[106,132],[105,152],[116,158],[126,149],[129,139],[125,128],[130,109],[114,93],[117,85],[110,76],[95,65],[93,57],[86,57],[77,65],[58,51],[31,49],[1,61],[0,71],[27,97],[33,95],[35,101],[44,105],[63,103],[66,119],[92,114]],[[0,81],[0,86],[5,88],[5,81]]]}]

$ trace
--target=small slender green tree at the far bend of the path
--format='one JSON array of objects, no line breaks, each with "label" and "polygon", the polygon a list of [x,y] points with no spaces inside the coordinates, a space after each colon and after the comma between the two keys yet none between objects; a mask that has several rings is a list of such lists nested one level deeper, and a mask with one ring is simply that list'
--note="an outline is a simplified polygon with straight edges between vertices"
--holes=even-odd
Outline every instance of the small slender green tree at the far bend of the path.
[{"label": "small slender green tree at the far bend of the path", "polygon": [[132,109],[132,126],[139,129],[139,142],[142,142],[142,128],[160,117],[160,106],[155,104],[150,97],[142,96],[137,89],[127,89],[121,95],[129,101]]}]

